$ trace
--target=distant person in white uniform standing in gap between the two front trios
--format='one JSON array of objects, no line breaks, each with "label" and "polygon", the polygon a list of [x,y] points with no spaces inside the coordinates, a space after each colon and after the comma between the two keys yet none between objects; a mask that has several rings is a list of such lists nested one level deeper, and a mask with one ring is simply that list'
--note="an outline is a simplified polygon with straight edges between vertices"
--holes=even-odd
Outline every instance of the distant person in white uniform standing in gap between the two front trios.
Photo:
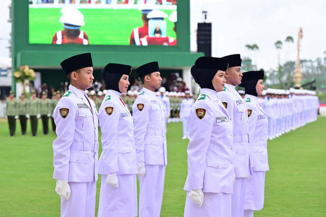
[{"label": "distant person in white uniform standing in gap between the two front trios", "polygon": [[194,99],[190,98],[190,91],[185,91],[185,98],[181,101],[180,105],[180,117],[182,118],[183,137],[182,139],[189,139],[189,126],[188,115],[194,105]]}]

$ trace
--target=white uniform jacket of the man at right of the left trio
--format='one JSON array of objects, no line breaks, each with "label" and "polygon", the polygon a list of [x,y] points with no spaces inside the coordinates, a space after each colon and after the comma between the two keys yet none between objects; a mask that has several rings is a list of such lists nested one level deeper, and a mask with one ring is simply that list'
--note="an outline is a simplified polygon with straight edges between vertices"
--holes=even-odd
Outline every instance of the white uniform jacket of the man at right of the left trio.
[{"label": "white uniform jacket of the man at right of the left trio", "polygon": [[143,88],[132,106],[137,162],[167,165],[165,110],[155,92]]}]

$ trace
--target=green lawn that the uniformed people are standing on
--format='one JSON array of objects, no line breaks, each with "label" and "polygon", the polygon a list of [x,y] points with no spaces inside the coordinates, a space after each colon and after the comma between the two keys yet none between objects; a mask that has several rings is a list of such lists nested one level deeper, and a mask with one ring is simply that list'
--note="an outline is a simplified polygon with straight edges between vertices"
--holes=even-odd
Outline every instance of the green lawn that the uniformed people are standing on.
[{"label": "green lawn that the uniformed people are standing on", "polygon": [[[0,216],[59,216],[60,198],[52,178],[54,134],[9,137],[0,120]],[[51,129],[51,127],[50,127]],[[200,130],[200,129],[199,129]],[[326,117],[268,141],[265,205],[255,216],[326,216]],[[187,140],[182,123],[168,125],[168,166],[161,216],[183,216]],[[97,182],[97,203],[100,181]],[[97,211],[96,211],[97,212]]]}]

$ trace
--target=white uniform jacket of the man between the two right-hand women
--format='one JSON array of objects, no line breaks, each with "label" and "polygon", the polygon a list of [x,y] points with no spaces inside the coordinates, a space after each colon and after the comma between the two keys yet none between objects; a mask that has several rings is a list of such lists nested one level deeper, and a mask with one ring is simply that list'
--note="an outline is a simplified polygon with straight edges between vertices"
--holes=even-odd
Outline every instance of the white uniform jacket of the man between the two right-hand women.
[{"label": "white uniform jacket of the man between the two right-hand women", "polygon": [[226,107],[233,124],[235,177],[248,177],[251,170],[247,107],[233,85],[225,84],[224,91],[219,92],[218,97]]}]

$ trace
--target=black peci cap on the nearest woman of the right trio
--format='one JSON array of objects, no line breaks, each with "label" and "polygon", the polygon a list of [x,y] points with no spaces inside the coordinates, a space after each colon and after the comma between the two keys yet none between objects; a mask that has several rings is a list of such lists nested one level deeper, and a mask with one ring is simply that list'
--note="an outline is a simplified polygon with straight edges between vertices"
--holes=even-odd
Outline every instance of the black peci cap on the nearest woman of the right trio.
[{"label": "black peci cap on the nearest woman of the right trio", "polygon": [[218,57],[201,56],[195,62],[195,67],[199,69],[213,69],[226,71],[228,69],[228,60]]}]

